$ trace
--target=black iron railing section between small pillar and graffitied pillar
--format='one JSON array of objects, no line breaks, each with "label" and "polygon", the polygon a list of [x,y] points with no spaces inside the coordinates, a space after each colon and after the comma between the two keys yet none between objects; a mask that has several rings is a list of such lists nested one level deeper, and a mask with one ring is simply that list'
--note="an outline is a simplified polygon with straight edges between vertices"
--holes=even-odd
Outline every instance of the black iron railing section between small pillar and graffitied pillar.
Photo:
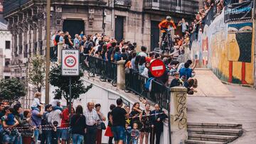
[{"label": "black iron railing section between small pillar and graffitied pillar", "polygon": [[139,72],[130,71],[125,75],[125,91],[132,91],[138,94],[141,98],[149,99],[150,101],[159,104],[164,109],[169,109],[170,89],[164,84],[160,84],[155,80],[151,82],[151,90],[145,88],[148,78],[139,74]]}]

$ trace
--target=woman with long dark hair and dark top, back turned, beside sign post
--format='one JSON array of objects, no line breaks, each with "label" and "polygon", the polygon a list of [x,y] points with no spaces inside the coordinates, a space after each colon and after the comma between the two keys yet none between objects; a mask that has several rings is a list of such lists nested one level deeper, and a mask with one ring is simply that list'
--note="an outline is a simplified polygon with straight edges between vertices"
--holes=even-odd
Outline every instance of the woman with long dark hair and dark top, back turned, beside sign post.
[{"label": "woman with long dark hair and dark top, back turned, beside sign post", "polygon": [[82,106],[78,105],[75,114],[71,118],[71,133],[73,144],[81,144],[85,135],[85,116],[82,114]]}]

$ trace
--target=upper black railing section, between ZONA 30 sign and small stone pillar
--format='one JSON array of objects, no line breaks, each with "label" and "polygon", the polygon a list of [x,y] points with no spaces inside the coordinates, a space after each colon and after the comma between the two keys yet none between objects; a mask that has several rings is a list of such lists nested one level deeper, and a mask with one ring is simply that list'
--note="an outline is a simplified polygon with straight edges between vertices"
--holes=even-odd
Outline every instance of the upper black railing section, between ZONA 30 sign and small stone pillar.
[{"label": "upper black railing section, between ZONA 30 sign and small stone pillar", "polygon": [[80,63],[82,64],[82,69],[89,72],[89,77],[95,77],[95,74],[97,74],[100,75],[102,82],[111,80],[112,85],[114,87],[117,86],[117,63],[90,55],[82,55]]}]

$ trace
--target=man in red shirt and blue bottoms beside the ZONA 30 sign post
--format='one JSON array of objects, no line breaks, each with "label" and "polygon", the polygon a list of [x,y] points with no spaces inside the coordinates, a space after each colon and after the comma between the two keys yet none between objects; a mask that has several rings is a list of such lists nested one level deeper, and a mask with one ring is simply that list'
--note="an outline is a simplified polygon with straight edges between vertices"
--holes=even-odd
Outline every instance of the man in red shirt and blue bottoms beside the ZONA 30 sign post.
[{"label": "man in red shirt and blue bottoms beside the ZONA 30 sign post", "polygon": [[[71,109],[73,109],[73,103],[71,103]],[[70,113],[69,113],[69,105],[66,109],[63,110],[61,113],[61,124],[60,128],[62,129],[61,133],[61,144],[65,144],[68,140],[70,135],[68,134],[68,127],[70,123]]]}]

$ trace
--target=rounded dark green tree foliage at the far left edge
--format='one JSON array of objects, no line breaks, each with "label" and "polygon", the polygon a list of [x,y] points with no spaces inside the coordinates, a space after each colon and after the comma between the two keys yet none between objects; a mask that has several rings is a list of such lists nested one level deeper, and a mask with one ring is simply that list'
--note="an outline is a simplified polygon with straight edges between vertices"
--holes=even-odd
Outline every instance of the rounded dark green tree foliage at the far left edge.
[{"label": "rounded dark green tree foliage at the far left edge", "polygon": [[6,99],[12,103],[25,95],[26,87],[21,80],[17,78],[0,80],[0,99]]}]

